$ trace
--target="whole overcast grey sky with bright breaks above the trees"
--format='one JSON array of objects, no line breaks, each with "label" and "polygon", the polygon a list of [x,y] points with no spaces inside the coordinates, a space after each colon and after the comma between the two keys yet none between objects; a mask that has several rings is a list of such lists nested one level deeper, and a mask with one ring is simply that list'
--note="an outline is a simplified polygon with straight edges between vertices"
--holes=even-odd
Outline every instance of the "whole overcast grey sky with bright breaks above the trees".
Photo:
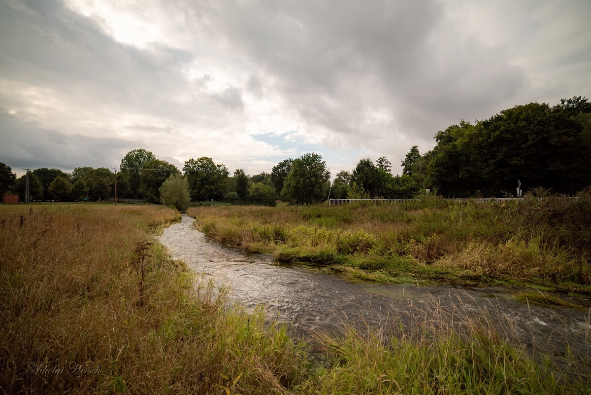
[{"label": "whole overcast grey sky with bright breaks above the trees", "polygon": [[397,172],[461,119],[591,96],[589,20],[589,0],[0,0],[0,161]]}]

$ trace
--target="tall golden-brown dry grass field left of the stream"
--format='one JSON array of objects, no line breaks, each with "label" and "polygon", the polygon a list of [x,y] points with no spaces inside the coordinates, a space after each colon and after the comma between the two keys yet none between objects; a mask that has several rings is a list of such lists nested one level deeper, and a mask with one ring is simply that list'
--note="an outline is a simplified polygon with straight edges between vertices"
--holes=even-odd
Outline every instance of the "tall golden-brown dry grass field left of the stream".
[{"label": "tall golden-brown dry grass field left of the stream", "polygon": [[[307,364],[264,317],[225,313],[158,244],[159,206],[34,206],[0,219],[0,388],[6,393],[281,392]],[[217,295],[217,296],[214,296]],[[239,377],[239,380],[237,378]]]}]

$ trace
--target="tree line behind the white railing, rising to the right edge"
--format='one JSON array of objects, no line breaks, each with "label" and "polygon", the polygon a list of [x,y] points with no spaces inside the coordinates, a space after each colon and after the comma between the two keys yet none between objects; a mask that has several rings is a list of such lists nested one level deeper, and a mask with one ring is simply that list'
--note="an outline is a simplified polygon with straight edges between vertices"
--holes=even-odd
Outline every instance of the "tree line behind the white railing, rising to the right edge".
[{"label": "tree line behind the white railing, rising to the right edge", "polygon": [[491,118],[460,121],[434,137],[423,154],[417,145],[401,161],[402,174],[379,157],[337,173],[335,198],[447,198],[517,195],[525,191],[570,195],[591,185],[591,103],[582,96],[505,109]]}]

